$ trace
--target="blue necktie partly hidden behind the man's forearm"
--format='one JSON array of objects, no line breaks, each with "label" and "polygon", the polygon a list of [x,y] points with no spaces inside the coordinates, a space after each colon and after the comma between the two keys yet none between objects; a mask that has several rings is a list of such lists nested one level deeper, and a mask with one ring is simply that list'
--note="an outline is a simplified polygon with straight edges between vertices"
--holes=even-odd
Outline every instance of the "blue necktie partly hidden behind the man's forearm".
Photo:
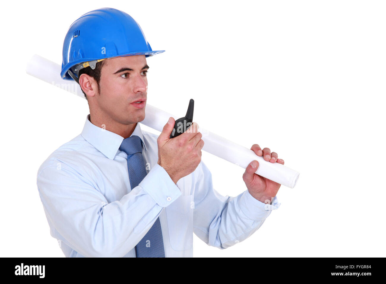
[{"label": "blue necktie partly hidden behind the man's forearm", "polygon": [[[139,185],[146,177],[146,167],[142,156],[141,138],[132,135],[125,138],[119,150],[127,154],[127,169],[129,170],[131,189]],[[135,246],[137,257],[165,257],[164,241],[162,239],[161,223],[159,218]]]}]

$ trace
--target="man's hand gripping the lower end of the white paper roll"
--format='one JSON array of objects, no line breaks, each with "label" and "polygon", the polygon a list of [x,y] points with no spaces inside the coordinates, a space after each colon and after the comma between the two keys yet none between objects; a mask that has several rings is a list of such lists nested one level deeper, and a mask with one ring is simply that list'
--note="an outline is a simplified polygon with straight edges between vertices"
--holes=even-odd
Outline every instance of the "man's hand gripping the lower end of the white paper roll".
[{"label": "man's hand gripping the lower end of the white paper roll", "polygon": [[[252,145],[251,150],[253,150],[257,156],[264,156],[266,163],[279,163],[284,165],[284,160],[278,159],[278,154],[275,152],[271,153],[269,148],[261,150],[259,145],[254,144]],[[281,184],[278,184],[273,180],[266,179],[261,175],[257,175],[255,172],[258,167],[259,162],[256,160],[252,161],[245,169],[242,179],[244,180],[249,193],[254,198],[263,203],[271,204],[271,201],[278,193]]]}]

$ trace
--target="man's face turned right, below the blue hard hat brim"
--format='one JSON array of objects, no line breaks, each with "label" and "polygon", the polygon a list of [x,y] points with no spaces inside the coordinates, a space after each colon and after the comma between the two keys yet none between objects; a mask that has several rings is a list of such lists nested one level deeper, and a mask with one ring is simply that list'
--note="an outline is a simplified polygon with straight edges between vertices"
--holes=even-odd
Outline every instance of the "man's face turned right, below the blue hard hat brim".
[{"label": "man's face turned right, below the blue hard hat brim", "polygon": [[[105,60],[101,70],[100,93],[95,96],[99,114],[120,124],[145,119],[147,66],[144,55],[121,56]],[[134,104],[137,100],[145,100]],[[144,105],[143,107],[141,107]]]}]

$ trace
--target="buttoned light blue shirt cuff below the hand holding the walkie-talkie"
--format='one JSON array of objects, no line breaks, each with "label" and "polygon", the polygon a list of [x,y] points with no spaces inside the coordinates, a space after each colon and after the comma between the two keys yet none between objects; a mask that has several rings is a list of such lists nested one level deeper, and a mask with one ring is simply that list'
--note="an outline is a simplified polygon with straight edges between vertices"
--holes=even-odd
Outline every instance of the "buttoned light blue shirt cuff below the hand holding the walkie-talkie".
[{"label": "buttoned light blue shirt cuff below the hand holding the walkie-talkie", "polygon": [[161,207],[170,205],[182,195],[181,190],[170,178],[168,172],[158,163],[147,173],[139,186]]}]

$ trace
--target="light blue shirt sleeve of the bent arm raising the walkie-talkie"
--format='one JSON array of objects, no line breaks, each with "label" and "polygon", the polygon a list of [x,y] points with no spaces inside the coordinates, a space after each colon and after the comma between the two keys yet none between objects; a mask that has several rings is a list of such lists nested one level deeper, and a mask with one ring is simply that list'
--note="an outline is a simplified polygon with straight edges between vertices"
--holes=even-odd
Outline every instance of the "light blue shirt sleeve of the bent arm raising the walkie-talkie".
[{"label": "light blue shirt sleeve of the bent arm raising the walkie-talkie", "polygon": [[49,223],[85,257],[123,257],[149,231],[162,209],[181,195],[158,164],[130,193],[110,203],[90,181],[63,164],[60,169],[44,168],[37,176],[37,187]]}]

